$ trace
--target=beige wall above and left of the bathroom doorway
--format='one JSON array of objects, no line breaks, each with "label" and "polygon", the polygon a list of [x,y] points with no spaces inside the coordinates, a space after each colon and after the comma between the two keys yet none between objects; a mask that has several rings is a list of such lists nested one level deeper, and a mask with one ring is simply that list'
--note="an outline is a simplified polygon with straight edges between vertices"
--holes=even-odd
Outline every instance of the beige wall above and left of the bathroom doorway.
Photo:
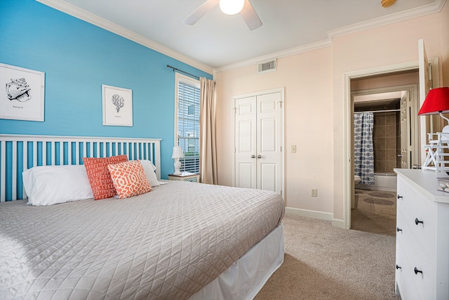
[{"label": "beige wall above and left of the bathroom doorway", "polygon": [[333,39],[334,219],[344,216],[343,74],[416,61],[418,39],[424,39],[428,57],[441,57],[443,15],[447,18],[447,11]]}]

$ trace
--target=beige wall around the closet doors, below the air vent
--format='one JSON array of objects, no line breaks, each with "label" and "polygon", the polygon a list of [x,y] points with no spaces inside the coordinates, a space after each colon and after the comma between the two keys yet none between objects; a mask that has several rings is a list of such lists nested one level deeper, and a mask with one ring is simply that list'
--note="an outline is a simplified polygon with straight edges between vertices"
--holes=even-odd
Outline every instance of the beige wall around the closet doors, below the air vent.
[{"label": "beige wall around the closet doors, below the air vent", "polygon": [[[218,182],[233,185],[232,96],[285,87],[285,179],[288,207],[333,212],[332,48],[280,58],[277,71],[255,65],[214,76],[217,82]],[[291,153],[290,146],[297,145]],[[323,176],[323,174],[328,174]],[[310,197],[318,188],[318,197]]]}]

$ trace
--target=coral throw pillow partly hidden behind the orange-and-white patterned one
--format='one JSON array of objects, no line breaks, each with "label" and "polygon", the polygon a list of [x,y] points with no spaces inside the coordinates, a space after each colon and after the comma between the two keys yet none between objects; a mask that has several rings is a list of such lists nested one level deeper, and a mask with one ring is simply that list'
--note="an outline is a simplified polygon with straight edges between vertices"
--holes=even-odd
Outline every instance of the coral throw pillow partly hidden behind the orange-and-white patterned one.
[{"label": "coral throw pillow partly hidden behind the orange-and-white patterned one", "polygon": [[95,200],[114,197],[117,195],[112,183],[111,175],[107,166],[109,164],[118,164],[127,162],[126,155],[117,155],[112,157],[83,157],[83,164],[86,167],[89,183],[91,183],[93,198]]}]

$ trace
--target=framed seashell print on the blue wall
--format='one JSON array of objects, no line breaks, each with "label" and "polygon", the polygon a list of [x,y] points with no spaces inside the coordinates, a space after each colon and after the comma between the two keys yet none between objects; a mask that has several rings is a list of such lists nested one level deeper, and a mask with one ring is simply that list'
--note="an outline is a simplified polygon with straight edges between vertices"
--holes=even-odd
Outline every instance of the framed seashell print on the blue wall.
[{"label": "framed seashell print on the blue wall", "polygon": [[0,84],[0,119],[43,122],[44,72],[0,63]]}]

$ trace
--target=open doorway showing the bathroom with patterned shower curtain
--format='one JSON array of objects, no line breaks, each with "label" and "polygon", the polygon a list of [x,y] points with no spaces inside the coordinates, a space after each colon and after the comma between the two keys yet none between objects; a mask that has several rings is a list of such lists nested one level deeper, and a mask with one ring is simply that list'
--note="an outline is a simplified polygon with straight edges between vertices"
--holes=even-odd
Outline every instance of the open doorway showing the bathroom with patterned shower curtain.
[{"label": "open doorway showing the bathroom with patterned shower curtain", "polygon": [[418,80],[417,70],[351,79],[351,229],[395,235],[394,169],[420,159]]}]

